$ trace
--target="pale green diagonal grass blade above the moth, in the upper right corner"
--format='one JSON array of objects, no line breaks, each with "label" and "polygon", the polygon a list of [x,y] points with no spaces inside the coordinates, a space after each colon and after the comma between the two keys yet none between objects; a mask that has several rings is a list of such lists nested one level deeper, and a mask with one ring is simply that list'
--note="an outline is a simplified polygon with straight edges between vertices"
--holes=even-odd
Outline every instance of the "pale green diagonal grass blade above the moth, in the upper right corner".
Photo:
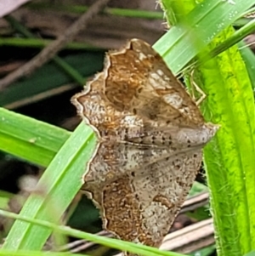
[{"label": "pale green diagonal grass blade above the moth, in the upper right corner", "polygon": [[203,1],[186,14],[181,24],[173,26],[161,37],[154,48],[176,74],[254,2],[236,0],[235,4],[231,4],[222,0]]}]

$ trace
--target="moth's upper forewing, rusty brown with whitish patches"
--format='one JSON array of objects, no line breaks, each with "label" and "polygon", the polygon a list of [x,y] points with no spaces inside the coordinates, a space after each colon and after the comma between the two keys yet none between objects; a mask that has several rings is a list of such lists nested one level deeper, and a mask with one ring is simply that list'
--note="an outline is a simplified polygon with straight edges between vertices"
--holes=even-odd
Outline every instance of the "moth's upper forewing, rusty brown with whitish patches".
[{"label": "moth's upper forewing, rusty brown with whitish patches", "polygon": [[131,40],[121,51],[106,55],[105,95],[118,111],[155,120],[201,125],[204,119],[183,85],[161,56],[141,40]]}]

